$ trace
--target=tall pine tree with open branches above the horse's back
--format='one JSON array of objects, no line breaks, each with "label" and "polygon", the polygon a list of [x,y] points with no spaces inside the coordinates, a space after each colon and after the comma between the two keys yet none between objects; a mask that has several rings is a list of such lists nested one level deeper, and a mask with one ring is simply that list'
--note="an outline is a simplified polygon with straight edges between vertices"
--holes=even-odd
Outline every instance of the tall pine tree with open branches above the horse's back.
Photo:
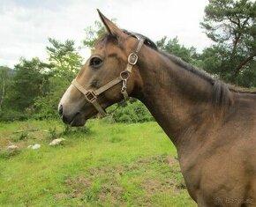
[{"label": "tall pine tree with open branches above the horse's back", "polygon": [[215,41],[203,51],[204,69],[233,84],[256,86],[256,2],[209,0],[201,26]]}]

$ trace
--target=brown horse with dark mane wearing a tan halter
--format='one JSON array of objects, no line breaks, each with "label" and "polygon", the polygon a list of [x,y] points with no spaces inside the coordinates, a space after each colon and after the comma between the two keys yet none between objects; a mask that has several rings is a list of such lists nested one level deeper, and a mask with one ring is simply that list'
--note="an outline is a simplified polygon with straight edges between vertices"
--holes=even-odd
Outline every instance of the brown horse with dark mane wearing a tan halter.
[{"label": "brown horse with dark mane wearing a tan halter", "polygon": [[135,97],[177,147],[198,206],[256,206],[256,94],[239,92],[99,15],[107,33],[64,92],[63,121],[82,126]]}]

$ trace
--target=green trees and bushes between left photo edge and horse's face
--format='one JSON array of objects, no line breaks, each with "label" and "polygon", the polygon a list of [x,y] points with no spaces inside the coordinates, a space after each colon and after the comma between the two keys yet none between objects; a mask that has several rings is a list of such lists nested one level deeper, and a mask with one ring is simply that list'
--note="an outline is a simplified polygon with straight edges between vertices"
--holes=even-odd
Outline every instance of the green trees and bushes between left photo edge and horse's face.
[{"label": "green trees and bushes between left photo edge and horse's face", "polygon": [[49,38],[49,43],[49,63],[38,58],[21,58],[14,74],[1,68],[1,121],[24,120],[31,115],[36,119],[57,117],[59,99],[75,78],[83,59],[74,41],[62,43]]}]

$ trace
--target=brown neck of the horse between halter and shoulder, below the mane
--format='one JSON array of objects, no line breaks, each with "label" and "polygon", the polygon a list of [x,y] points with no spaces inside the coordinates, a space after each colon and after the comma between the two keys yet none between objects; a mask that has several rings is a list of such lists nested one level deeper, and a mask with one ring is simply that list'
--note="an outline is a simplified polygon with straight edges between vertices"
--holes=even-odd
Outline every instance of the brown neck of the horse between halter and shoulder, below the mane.
[{"label": "brown neck of the horse between halter and shoulder, below the mane", "polygon": [[139,73],[141,100],[176,145],[188,129],[197,129],[210,113],[212,85],[151,51],[142,55]]}]

